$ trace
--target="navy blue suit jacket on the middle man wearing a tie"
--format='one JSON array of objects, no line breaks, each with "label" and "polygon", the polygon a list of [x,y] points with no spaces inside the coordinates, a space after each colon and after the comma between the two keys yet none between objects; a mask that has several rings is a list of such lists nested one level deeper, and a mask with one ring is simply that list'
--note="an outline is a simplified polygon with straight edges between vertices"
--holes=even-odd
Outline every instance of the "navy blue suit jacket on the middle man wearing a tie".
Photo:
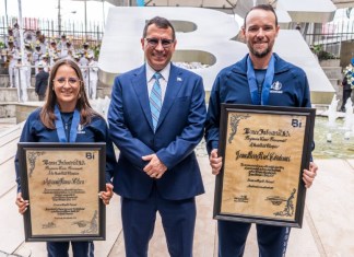
[{"label": "navy blue suit jacket on the middle man wearing a tie", "polygon": [[[145,199],[153,183],[161,196],[179,200],[203,194],[193,149],[203,136],[205,103],[202,78],[172,65],[156,132],[153,131],[145,66],[115,79],[108,112],[110,136],[120,155],[114,190],[127,198]],[[160,179],[142,170],[141,157],[156,153],[167,166]]]}]

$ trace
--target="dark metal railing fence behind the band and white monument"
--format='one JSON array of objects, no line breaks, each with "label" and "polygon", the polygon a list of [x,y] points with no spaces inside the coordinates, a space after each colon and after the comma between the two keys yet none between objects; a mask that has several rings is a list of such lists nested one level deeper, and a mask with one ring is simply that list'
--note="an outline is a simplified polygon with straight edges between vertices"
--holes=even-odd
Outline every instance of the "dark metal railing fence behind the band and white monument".
[{"label": "dark metal railing fence behind the band and white monument", "polygon": [[[15,17],[0,16],[0,42],[4,42],[8,35],[8,25],[13,27]],[[75,49],[81,48],[83,42],[88,42],[91,47],[99,46],[104,34],[104,24],[102,22],[73,22],[62,20],[60,30],[58,30],[58,20],[49,19],[23,19],[24,38],[33,40],[36,30],[49,38],[59,40],[62,34],[72,42]],[[303,36],[308,46],[318,46],[327,52],[339,57],[341,43],[354,39],[354,20],[343,19],[338,22],[323,24],[302,24]],[[86,28],[86,30],[85,30]]]}]

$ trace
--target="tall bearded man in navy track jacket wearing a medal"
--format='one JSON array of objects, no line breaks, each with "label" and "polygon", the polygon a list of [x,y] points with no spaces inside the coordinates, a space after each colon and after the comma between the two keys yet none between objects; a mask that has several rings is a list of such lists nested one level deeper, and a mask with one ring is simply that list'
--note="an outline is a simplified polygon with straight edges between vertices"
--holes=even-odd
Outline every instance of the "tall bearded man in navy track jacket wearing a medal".
[{"label": "tall bearded man in navy track jacket wearing a medal", "polygon": [[[224,68],[216,77],[205,122],[205,140],[212,173],[219,174],[223,164],[217,154],[221,104],[249,104],[310,107],[310,93],[305,72],[272,51],[279,33],[276,14],[271,5],[253,7],[245,16],[243,34],[249,52],[244,59]],[[309,188],[317,173],[310,163],[303,180]],[[250,223],[219,221],[219,256],[244,255]],[[290,227],[257,224],[261,257],[285,256]]]}]

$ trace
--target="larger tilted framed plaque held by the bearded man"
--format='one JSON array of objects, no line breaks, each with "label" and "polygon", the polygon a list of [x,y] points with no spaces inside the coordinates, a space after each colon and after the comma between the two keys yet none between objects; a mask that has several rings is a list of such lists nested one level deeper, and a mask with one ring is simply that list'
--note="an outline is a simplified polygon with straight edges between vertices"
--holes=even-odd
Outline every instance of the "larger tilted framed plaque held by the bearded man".
[{"label": "larger tilted framed plaque held by the bearded man", "polygon": [[221,107],[214,219],[302,227],[315,109]]}]

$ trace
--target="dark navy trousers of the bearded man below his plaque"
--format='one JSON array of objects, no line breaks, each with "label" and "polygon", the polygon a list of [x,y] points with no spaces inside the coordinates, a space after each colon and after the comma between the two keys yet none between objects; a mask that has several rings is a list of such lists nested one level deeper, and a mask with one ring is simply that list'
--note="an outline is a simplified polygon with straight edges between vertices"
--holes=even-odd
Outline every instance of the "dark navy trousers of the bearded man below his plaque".
[{"label": "dark navy trousers of the bearded man below his plaque", "polygon": [[[241,257],[251,223],[217,221],[219,257]],[[260,257],[285,256],[290,227],[257,224]]]}]

